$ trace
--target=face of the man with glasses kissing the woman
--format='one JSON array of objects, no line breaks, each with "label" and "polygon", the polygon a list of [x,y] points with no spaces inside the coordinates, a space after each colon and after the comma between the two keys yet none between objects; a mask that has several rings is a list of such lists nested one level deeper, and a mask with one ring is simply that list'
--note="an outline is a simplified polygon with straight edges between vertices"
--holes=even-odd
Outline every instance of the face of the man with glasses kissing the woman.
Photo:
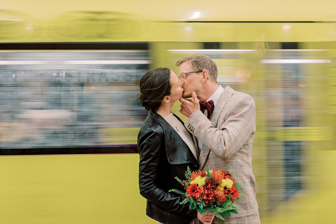
[{"label": "face of the man with glasses kissing the woman", "polygon": [[[192,67],[189,61],[185,61],[180,64],[178,69],[178,75],[181,77],[182,73],[193,72],[195,69]],[[183,82],[183,98],[192,97],[191,93],[193,91],[198,92],[198,89],[201,87],[201,79],[202,73],[201,72],[194,72],[185,75],[185,79]]]}]

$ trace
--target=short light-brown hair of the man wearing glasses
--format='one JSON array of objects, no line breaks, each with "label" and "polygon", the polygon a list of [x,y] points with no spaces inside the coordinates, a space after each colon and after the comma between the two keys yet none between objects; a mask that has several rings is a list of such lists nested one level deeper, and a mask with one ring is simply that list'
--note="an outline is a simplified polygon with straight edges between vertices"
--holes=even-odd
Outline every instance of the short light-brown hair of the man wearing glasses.
[{"label": "short light-brown hair of the man wearing glasses", "polygon": [[[218,69],[216,63],[206,55],[195,55],[179,59],[176,62],[176,66],[180,66],[182,63],[189,61],[194,70],[207,70],[209,76],[217,83]],[[191,71],[190,71],[191,72]]]}]

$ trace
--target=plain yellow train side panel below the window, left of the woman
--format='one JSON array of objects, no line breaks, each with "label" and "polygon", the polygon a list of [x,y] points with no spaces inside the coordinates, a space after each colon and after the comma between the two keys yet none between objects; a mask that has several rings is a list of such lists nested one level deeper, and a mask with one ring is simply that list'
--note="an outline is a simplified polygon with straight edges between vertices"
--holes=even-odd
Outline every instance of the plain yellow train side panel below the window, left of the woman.
[{"label": "plain yellow train side panel below the window, left of the woman", "polygon": [[145,215],[138,162],[138,154],[1,156],[1,223],[157,223]]}]

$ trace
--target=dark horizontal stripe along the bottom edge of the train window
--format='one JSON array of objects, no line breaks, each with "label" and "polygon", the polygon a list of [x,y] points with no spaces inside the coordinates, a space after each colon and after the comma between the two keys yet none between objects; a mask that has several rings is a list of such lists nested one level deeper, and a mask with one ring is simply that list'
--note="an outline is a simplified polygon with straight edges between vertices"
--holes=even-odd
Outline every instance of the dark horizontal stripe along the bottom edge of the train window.
[{"label": "dark horizontal stripe along the bottom edge of the train window", "polygon": [[62,148],[0,148],[0,155],[120,154],[138,153],[137,145],[109,145]]}]

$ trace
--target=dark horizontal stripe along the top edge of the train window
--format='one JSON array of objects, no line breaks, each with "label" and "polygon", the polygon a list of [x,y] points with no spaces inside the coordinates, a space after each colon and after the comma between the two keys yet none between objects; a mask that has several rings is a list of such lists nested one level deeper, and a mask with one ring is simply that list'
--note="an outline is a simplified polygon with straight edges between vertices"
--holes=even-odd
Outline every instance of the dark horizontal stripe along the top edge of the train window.
[{"label": "dark horizontal stripe along the top edge of the train window", "polygon": [[147,42],[0,43],[0,50],[148,50]]}]

